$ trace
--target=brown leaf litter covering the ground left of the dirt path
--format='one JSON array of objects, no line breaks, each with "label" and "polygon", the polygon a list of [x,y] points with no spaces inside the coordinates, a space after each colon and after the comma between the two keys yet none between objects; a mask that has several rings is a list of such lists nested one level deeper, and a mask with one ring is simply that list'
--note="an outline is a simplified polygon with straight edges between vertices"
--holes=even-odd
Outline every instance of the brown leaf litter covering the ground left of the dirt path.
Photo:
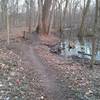
[{"label": "brown leaf litter covering the ground left of the dirt path", "polygon": [[38,75],[26,69],[27,65],[13,51],[0,49],[0,100],[35,100],[41,96]]}]

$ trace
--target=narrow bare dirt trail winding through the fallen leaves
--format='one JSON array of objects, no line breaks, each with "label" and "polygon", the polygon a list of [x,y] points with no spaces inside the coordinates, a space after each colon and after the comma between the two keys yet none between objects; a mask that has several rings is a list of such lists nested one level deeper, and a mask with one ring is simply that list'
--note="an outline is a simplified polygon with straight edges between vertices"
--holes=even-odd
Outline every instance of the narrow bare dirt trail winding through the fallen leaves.
[{"label": "narrow bare dirt trail winding through the fallen leaves", "polygon": [[60,79],[57,79],[56,71],[54,71],[52,67],[43,63],[42,59],[40,59],[35,53],[34,46],[37,44],[36,39],[37,37],[34,35],[33,44],[20,44],[20,56],[23,60],[29,63],[29,69],[34,67],[32,70],[35,70],[39,74],[40,84],[43,87],[44,92],[43,95],[47,98],[44,100],[69,100],[66,97],[67,94],[65,88],[62,88],[62,85],[59,82]]}]

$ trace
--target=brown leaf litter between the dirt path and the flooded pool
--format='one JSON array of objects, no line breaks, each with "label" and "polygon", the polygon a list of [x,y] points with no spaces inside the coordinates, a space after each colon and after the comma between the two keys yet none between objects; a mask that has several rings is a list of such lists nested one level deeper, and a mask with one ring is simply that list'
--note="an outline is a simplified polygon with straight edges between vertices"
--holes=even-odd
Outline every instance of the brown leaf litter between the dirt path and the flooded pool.
[{"label": "brown leaf litter between the dirt path and the flooded pool", "polygon": [[[42,37],[44,43],[53,44],[52,37],[47,40]],[[52,54],[46,45],[39,45],[35,48],[38,55],[46,61],[57,73],[58,76],[66,82],[66,85],[75,91],[75,95],[80,99],[96,100],[96,88],[93,84],[93,73],[86,66],[82,66],[80,63],[76,63],[70,59],[63,59],[58,55]],[[99,72],[98,72],[99,73]],[[95,76],[96,77],[96,76]],[[95,89],[94,89],[95,88]],[[100,87],[99,87],[100,89]],[[100,98],[100,94],[99,98]],[[79,100],[80,100],[79,99]]]}]

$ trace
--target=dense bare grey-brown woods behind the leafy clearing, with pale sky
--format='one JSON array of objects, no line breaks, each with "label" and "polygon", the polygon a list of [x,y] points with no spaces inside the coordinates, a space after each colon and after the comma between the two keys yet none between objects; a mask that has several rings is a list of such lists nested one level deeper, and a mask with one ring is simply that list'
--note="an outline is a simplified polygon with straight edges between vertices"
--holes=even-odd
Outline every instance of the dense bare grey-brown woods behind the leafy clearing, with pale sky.
[{"label": "dense bare grey-brown woods behind the leafy clearing, with pale sky", "polygon": [[[56,33],[62,40],[67,37],[69,41],[77,36],[81,43],[83,37],[92,36],[92,54],[95,55],[95,38],[100,36],[100,1],[0,0],[0,23],[0,31],[7,32],[8,44],[16,28],[44,35]],[[94,56],[92,62],[93,59]]]}]

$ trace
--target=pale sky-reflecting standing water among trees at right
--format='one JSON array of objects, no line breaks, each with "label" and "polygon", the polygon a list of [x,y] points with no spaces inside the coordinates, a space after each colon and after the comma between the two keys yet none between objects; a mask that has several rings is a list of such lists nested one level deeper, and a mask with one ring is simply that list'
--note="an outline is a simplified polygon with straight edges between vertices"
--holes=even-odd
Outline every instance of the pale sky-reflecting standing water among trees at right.
[{"label": "pale sky-reflecting standing water among trees at right", "polygon": [[[62,51],[61,55],[68,57],[68,56],[78,56],[80,58],[83,58],[82,54],[79,54],[78,52],[84,52],[86,55],[84,55],[84,58],[91,59],[92,55],[92,43],[88,40],[84,41],[84,45],[81,45],[78,41],[76,41],[76,45],[74,49],[71,49],[69,51],[68,45],[69,42],[68,40],[64,41],[64,43],[61,43],[61,47],[65,46],[65,49]],[[83,49],[82,49],[83,48]],[[100,60],[100,50],[97,51],[96,53],[96,60]]]}]

